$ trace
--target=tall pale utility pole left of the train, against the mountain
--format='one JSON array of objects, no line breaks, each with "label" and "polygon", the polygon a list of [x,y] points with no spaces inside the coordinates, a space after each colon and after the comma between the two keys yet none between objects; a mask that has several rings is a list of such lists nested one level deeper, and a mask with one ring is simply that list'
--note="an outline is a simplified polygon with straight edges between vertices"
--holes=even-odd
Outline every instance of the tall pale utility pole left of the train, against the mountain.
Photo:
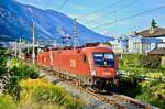
[{"label": "tall pale utility pole left of the train, against the mountain", "polygon": [[35,64],[35,26],[34,26],[34,22],[33,22],[33,25],[32,25],[32,35],[33,35],[33,41],[32,41],[32,45],[33,45],[33,51],[32,51],[32,61],[33,61],[33,64]]}]

